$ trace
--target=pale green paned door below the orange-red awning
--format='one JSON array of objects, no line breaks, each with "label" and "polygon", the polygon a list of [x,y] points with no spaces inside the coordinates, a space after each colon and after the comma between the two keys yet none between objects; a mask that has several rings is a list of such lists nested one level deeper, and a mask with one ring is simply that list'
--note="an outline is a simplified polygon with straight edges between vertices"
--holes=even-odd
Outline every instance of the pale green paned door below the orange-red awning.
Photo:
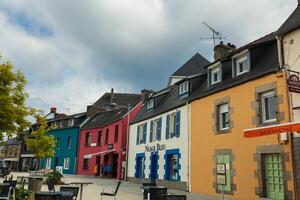
[{"label": "pale green paned door below the orange-red awning", "polygon": [[263,184],[264,196],[274,200],[284,200],[284,185],[280,154],[264,154]]}]

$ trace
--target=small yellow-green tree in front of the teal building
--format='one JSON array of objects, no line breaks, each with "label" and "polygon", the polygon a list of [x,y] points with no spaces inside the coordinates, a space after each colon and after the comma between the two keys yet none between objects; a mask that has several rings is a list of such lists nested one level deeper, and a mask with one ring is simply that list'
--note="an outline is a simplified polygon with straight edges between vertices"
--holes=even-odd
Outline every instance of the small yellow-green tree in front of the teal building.
[{"label": "small yellow-green tree in front of the teal building", "polygon": [[[36,115],[36,124],[32,133],[25,138],[25,143],[28,149],[38,159],[54,156],[54,137],[47,135],[50,130],[48,128],[47,120],[41,116]],[[38,169],[38,162],[36,164],[36,170]]]}]

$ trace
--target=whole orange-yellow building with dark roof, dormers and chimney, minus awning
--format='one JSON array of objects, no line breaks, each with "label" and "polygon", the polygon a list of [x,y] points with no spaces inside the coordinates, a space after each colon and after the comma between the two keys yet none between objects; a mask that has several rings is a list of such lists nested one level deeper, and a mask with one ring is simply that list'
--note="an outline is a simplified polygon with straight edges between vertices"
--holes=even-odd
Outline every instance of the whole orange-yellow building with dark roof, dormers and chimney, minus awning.
[{"label": "whole orange-yellow building with dark roof, dormers and chimney, minus awning", "polygon": [[192,192],[294,199],[287,134],[244,137],[245,129],[290,120],[275,34],[239,49],[221,43],[215,59],[191,103]]}]

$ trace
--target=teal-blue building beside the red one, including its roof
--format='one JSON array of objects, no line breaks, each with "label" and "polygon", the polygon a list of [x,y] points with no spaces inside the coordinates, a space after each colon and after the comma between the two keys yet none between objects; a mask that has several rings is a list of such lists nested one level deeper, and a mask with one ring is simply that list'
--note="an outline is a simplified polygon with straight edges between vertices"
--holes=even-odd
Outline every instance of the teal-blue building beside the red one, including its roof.
[{"label": "teal-blue building beside the red one, including its roof", "polygon": [[54,118],[48,123],[53,127],[49,135],[54,136],[54,157],[41,160],[41,168],[46,170],[59,170],[63,174],[76,174],[78,137],[80,127],[87,120],[87,113]]}]

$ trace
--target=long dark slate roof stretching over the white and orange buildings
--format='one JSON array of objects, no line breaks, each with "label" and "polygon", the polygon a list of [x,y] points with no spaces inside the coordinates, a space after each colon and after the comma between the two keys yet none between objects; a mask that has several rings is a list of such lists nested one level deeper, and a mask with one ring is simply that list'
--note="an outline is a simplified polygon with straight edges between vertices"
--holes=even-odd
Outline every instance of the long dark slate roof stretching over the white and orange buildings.
[{"label": "long dark slate roof stretching over the white and orange buildings", "polygon": [[[239,48],[239,50],[235,51],[235,53],[246,49],[246,47],[249,48],[251,55],[251,69],[249,72],[232,78],[231,56],[233,54],[230,54],[230,56],[221,60],[223,65],[221,83],[208,87],[207,73],[191,75],[186,79],[175,83],[175,85],[159,91],[158,93],[160,93],[160,95],[156,95],[157,93],[153,94],[152,97],[155,97],[154,109],[147,110],[147,104],[145,104],[131,124],[141,122],[176,109],[196,99],[203,98],[213,93],[243,84],[247,81],[274,73],[279,69],[280,65],[278,63],[277,43],[274,33]],[[186,98],[180,98],[178,95],[178,85],[186,80],[190,82],[190,94]]]}]

